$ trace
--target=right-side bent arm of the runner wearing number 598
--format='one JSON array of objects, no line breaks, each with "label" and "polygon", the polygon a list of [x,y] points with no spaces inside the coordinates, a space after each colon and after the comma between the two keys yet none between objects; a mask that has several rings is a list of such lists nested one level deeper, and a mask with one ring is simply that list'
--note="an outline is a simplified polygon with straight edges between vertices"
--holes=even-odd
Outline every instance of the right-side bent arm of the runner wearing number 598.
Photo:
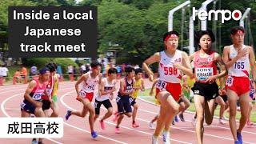
[{"label": "right-side bent arm of the runner wearing number 598", "polygon": [[193,76],[188,55],[182,51],[182,65],[174,64],[174,67],[188,76]]}]

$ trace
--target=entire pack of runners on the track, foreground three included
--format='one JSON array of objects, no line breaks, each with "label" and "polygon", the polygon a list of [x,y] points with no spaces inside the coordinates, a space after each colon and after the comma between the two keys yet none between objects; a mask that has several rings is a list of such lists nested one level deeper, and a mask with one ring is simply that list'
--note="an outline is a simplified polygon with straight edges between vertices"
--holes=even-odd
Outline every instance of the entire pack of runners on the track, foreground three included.
[{"label": "entire pack of runners on the track, foreground three included", "polygon": [[[208,125],[213,122],[216,103],[224,106],[221,108],[220,122],[226,105],[230,106],[229,122],[234,143],[242,143],[242,129],[250,116],[251,99],[249,95],[253,94],[250,89],[254,88],[255,92],[255,58],[253,48],[243,45],[244,29],[241,26],[231,28],[230,36],[233,44],[225,46],[221,56],[212,48],[215,37],[211,30],[198,31],[195,34],[195,42],[198,44],[199,50],[188,56],[182,50],[177,49],[178,32],[170,31],[163,35],[165,50],[155,53],[142,63],[142,68],[148,74],[150,81],[153,82],[150,95],[153,95],[153,87],[155,86],[155,98],[160,105],[159,114],[150,122],[150,127],[153,128],[152,123],[157,121],[152,135],[152,143],[158,143],[161,133],[163,142],[170,143],[170,124],[174,122],[174,117],[178,114],[181,121],[184,121],[183,112],[190,106],[190,101],[185,96],[190,91],[186,82],[187,77],[195,78],[192,90],[196,109],[195,131],[198,143],[203,142],[204,119]],[[159,78],[154,78],[154,73],[149,67],[154,62],[159,63]],[[194,65],[193,70],[191,62]],[[110,118],[112,114],[114,114],[113,121],[117,123],[115,133],[121,132],[119,126],[125,115],[128,118],[132,117],[132,127],[138,127],[136,98],[140,90],[145,90],[142,69],[126,67],[126,77],[118,82],[116,79],[118,70],[114,67],[111,67],[107,72],[107,77],[103,78],[100,73],[100,63],[91,62],[90,66],[91,70],[83,74],[75,83],[76,100],[82,103],[82,110],[67,110],[66,120],[71,115],[84,118],[89,113],[92,138],[98,136],[94,130],[94,122],[98,119],[102,130],[105,130],[104,121]],[[56,69],[56,64],[48,63],[39,70],[39,77],[30,82],[21,105],[22,117],[30,117],[30,114],[34,114],[36,117],[58,117],[58,75],[55,74]],[[250,70],[253,79],[251,82],[249,79]],[[221,81],[220,86],[216,83],[217,79]],[[223,84],[224,81],[226,81],[226,85]],[[120,86],[117,86],[117,83]],[[117,90],[118,87],[119,90]],[[116,92],[118,94],[114,95]],[[218,95],[223,97],[218,97]],[[223,101],[224,95],[227,97],[227,103]],[[115,112],[110,102],[114,98],[118,107]],[[237,129],[235,116],[238,99],[241,106],[241,118]],[[92,105],[93,100],[94,106]],[[102,105],[106,107],[107,111],[102,117],[99,117]],[[51,114],[50,109],[53,110]],[[35,141],[33,138],[33,142]],[[42,138],[39,138],[38,143],[42,143]]]}]

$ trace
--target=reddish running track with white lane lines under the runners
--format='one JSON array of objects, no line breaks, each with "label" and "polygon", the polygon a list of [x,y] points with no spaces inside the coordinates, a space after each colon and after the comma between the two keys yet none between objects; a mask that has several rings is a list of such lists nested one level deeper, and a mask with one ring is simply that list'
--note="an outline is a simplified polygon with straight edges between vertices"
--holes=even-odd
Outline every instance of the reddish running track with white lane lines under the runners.
[{"label": "reddish running track with white lane lines under the runners", "polygon": [[[146,87],[151,85],[146,82]],[[20,103],[23,99],[26,85],[16,86],[0,86],[0,117],[20,117]],[[82,104],[75,100],[76,94],[74,91],[74,82],[62,82],[58,90],[58,105],[60,108],[60,117],[64,118],[67,109],[81,110]],[[105,121],[106,130],[100,128],[99,122],[96,121],[94,128],[98,131],[98,138],[90,137],[90,126],[88,116],[86,118],[78,118],[72,115],[69,121],[64,121],[64,136],[63,138],[44,139],[44,143],[150,143],[151,134],[154,130],[148,128],[148,122],[158,113],[158,106],[154,106],[148,102],[138,99],[139,110],[137,114],[137,122],[140,125],[134,129],[131,127],[131,118],[125,117],[122,121],[120,130],[121,134],[114,133],[115,123],[112,122],[112,117]],[[112,101],[114,110],[116,103]],[[101,115],[106,112],[106,109],[101,110]],[[176,143],[197,143],[194,126],[191,125],[193,114],[186,113],[184,115],[186,122],[178,122],[171,126],[170,138],[171,142]],[[218,119],[214,119],[211,126],[205,126],[204,143],[206,144],[231,144],[234,143],[230,133],[229,126],[218,124]],[[256,144],[256,128],[245,127],[242,133],[244,143]],[[13,138],[0,139],[0,143],[30,143],[28,138]],[[162,139],[159,139],[162,143]]]}]

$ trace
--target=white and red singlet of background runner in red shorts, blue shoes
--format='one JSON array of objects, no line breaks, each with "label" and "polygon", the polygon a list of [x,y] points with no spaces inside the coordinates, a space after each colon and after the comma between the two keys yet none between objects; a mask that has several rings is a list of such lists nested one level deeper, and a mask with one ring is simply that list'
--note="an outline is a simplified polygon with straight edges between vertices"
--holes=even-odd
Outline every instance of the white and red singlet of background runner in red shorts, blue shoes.
[{"label": "white and red singlet of background runner in red shorts, blue shoes", "polygon": [[88,72],[86,74],[88,74],[88,78],[86,82],[83,82],[82,90],[85,91],[86,93],[93,93],[95,90],[95,87],[98,85],[99,77],[97,75],[96,78],[92,78],[90,76],[91,72]]}]

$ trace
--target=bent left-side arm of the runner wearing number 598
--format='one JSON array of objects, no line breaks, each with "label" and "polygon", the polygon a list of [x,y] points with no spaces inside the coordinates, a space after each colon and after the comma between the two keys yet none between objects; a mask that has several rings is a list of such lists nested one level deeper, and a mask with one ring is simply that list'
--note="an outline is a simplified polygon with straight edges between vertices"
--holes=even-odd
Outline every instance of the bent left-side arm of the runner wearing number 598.
[{"label": "bent left-side arm of the runner wearing number 598", "polygon": [[150,81],[153,81],[154,73],[150,70],[149,65],[154,62],[160,62],[160,53],[157,52],[152,55],[150,58],[147,58],[146,61],[142,63],[142,69],[146,71],[146,74],[149,75]]}]

